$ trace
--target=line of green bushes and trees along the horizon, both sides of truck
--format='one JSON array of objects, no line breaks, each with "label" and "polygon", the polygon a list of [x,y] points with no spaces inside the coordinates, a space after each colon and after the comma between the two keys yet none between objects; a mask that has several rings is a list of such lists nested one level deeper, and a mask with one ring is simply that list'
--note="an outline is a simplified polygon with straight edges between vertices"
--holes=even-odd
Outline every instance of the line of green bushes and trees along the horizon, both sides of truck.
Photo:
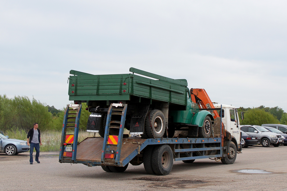
[{"label": "line of green bushes and trees along the horizon, both sides of truck", "polygon": [[[90,113],[86,111],[86,103],[82,103],[79,129],[85,130]],[[259,107],[237,109],[244,113],[244,120],[240,119],[241,125],[284,124],[287,125],[287,113],[276,107]],[[29,131],[36,122],[39,129],[44,131],[60,131],[63,127],[65,107],[56,109],[27,96],[15,96],[8,98],[5,94],[0,95],[0,130],[24,130]]]}]

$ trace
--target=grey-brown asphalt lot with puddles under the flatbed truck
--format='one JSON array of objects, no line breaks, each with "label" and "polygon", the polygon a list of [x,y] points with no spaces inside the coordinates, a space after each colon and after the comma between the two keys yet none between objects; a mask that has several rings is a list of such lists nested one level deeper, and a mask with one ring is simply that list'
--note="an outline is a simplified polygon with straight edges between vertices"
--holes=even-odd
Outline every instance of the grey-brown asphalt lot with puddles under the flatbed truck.
[{"label": "grey-brown asphalt lot with puddles under the flatbed truck", "polygon": [[[30,165],[28,152],[14,156],[0,153],[0,190],[287,191],[287,146],[243,148],[231,165],[210,159],[195,160],[191,164],[174,162],[171,173],[166,176],[147,174],[143,164],[129,164],[123,173],[104,172],[100,166],[61,164],[58,154],[41,152],[40,164]],[[238,172],[246,169],[271,173]]]}]

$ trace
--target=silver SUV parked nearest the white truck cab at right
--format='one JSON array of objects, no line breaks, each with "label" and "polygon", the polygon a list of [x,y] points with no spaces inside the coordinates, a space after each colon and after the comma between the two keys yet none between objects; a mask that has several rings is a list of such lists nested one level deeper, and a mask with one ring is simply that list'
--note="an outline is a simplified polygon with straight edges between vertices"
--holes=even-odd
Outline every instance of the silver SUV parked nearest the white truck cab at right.
[{"label": "silver SUV parked nearest the white truck cab at right", "polygon": [[281,143],[283,143],[284,137],[282,137],[280,134],[273,133],[258,125],[241,125],[240,130],[250,135],[257,136],[258,143],[260,143],[263,147],[269,147],[270,144],[278,147]]}]

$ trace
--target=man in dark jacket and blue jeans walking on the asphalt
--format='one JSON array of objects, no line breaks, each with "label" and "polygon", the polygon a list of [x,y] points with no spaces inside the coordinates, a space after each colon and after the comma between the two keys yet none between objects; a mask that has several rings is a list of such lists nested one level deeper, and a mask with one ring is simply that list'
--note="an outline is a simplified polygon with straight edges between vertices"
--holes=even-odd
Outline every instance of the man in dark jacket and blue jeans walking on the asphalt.
[{"label": "man in dark jacket and blue jeans walking on the asphalt", "polygon": [[[30,138],[30,141],[29,141]],[[33,151],[34,148],[36,150],[35,161],[40,163],[39,155],[40,155],[40,145],[42,145],[40,129],[38,129],[38,123],[34,123],[34,127],[30,129],[27,135],[27,142],[30,145],[30,164],[33,164]]]}]

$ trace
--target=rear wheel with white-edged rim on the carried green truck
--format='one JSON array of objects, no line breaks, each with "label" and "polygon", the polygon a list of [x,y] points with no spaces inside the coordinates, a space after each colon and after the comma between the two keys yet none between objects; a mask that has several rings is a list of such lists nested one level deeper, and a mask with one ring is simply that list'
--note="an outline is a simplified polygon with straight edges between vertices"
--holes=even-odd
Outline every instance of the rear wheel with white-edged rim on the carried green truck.
[{"label": "rear wheel with white-edged rim on the carried green truck", "polygon": [[161,138],[165,132],[165,118],[162,111],[152,110],[146,116],[145,128],[149,138]]}]

